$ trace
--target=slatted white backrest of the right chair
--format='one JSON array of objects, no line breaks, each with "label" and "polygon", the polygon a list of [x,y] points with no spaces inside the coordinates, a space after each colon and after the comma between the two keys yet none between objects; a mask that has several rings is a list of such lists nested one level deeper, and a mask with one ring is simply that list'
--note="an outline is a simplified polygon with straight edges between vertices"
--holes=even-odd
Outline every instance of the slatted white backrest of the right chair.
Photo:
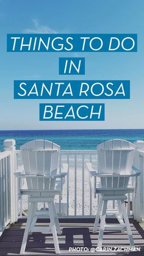
[{"label": "slatted white backrest of the right chair", "polygon": [[[126,187],[129,178],[121,175],[131,174],[134,161],[135,145],[123,139],[113,139],[98,145],[98,172],[113,174],[113,177],[101,178],[106,187]],[[120,177],[114,177],[115,174]]]}]

